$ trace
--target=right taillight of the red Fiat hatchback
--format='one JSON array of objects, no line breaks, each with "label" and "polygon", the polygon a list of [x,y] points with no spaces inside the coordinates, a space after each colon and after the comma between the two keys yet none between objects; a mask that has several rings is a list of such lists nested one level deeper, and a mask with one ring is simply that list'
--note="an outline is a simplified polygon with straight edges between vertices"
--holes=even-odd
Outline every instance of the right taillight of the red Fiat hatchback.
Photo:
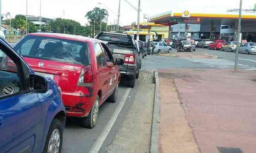
[{"label": "right taillight of the red Fiat hatchback", "polygon": [[77,86],[92,87],[93,86],[93,73],[91,65],[82,68],[78,78]]}]

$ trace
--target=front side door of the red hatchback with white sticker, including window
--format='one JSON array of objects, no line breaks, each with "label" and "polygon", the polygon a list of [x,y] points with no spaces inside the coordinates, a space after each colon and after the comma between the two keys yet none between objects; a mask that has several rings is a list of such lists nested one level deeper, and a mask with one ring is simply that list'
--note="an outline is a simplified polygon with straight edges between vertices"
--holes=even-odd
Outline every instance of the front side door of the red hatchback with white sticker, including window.
[{"label": "front side door of the red hatchback with white sticker, including window", "polygon": [[[114,63],[113,57],[112,57],[111,52],[108,49],[108,47],[104,43],[101,43],[101,45],[102,45],[103,50],[104,50],[106,61],[108,63],[109,62]],[[113,93],[115,87],[118,85],[119,68],[118,68],[117,65],[115,65],[113,67],[110,67],[109,78],[110,78],[110,81],[109,81],[109,89],[108,89],[108,92],[107,92],[107,97],[109,97]]]}]

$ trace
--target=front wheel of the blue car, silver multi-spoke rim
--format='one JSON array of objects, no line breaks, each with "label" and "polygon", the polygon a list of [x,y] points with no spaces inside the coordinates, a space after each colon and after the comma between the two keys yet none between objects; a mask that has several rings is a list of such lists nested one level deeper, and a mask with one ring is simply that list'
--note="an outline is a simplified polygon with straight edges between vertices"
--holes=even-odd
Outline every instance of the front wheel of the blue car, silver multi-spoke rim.
[{"label": "front wheel of the blue car, silver multi-spoke rim", "polygon": [[[59,138],[56,138],[55,140],[56,136],[59,136]],[[51,141],[53,144],[50,144],[50,139],[51,140],[54,139],[54,142]],[[60,153],[62,148],[62,141],[63,141],[63,129],[62,129],[61,122],[57,118],[53,118],[47,137],[46,137],[43,153],[47,153],[49,149],[50,149],[49,152],[52,152],[51,151],[52,149],[57,149],[57,148],[59,149],[59,151],[57,152]]]}]

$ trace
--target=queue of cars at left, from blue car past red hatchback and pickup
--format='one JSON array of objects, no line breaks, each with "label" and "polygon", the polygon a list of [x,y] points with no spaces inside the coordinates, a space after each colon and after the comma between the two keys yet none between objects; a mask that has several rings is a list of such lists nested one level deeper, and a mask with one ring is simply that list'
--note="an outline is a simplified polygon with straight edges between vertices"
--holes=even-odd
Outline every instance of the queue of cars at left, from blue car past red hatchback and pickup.
[{"label": "queue of cars at left, from blue car past red hatchback and pickup", "polygon": [[59,153],[66,117],[93,128],[121,78],[134,87],[146,44],[120,33],[95,38],[34,33],[13,48],[0,40],[0,152]]}]

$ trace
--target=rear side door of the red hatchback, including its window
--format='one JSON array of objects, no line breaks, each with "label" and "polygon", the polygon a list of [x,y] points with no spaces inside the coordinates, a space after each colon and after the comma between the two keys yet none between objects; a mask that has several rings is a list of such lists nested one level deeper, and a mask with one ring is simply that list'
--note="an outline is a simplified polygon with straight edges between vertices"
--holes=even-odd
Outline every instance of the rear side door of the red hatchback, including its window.
[{"label": "rear side door of the red hatchback, including its window", "polygon": [[94,44],[95,56],[97,59],[97,82],[102,89],[102,98],[100,103],[104,102],[107,98],[109,90],[109,81],[110,81],[110,67],[106,65],[105,56],[103,54],[102,48],[99,43]]}]

